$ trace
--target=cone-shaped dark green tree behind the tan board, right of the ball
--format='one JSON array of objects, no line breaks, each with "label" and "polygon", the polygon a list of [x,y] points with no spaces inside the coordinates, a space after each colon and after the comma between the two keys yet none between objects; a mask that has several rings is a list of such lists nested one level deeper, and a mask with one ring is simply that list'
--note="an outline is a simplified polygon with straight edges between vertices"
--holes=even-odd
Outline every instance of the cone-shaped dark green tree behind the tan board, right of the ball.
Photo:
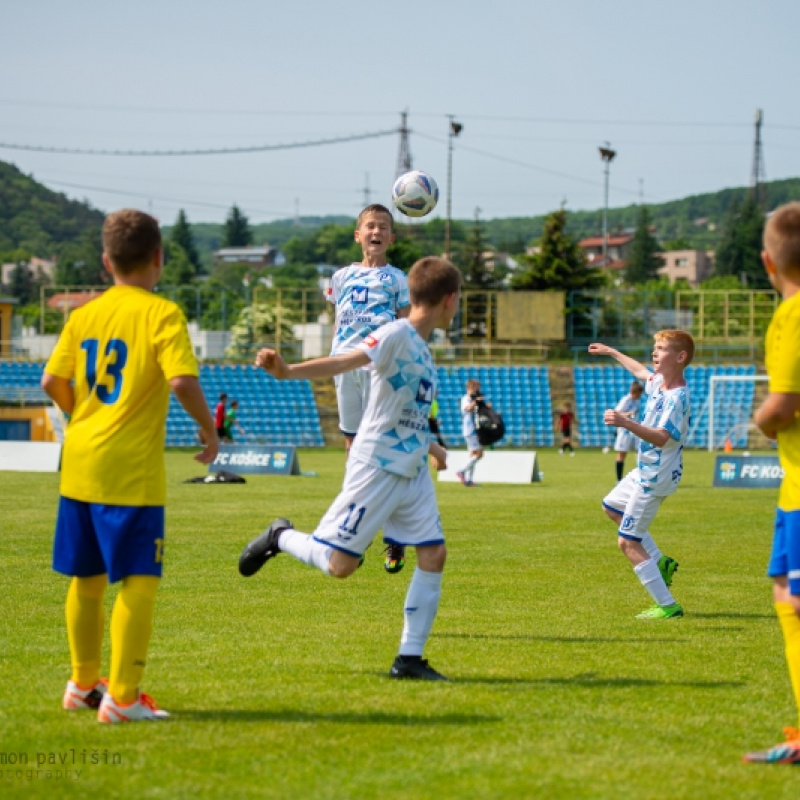
[{"label": "cone-shaped dark green tree behind the tan board, right of the ball", "polygon": [[511,279],[513,289],[542,292],[600,288],[605,280],[589,266],[578,239],[566,232],[567,212],[562,208],[547,216],[538,251],[520,256],[521,268]]}]

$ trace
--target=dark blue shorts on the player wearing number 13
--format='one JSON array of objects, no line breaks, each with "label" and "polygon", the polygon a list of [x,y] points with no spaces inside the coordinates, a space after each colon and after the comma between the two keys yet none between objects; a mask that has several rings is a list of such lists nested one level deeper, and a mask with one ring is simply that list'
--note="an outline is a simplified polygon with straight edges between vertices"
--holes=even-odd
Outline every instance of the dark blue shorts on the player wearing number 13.
[{"label": "dark blue shorts on the player wearing number 13", "polygon": [[161,577],[164,506],[115,506],[62,497],[53,543],[53,569],[110,583],[128,575]]}]

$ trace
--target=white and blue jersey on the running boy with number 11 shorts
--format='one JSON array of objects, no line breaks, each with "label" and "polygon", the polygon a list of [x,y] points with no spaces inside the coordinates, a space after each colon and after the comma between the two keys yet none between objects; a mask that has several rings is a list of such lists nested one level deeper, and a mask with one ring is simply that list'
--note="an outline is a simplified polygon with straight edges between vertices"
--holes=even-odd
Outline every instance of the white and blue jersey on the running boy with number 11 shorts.
[{"label": "white and blue jersey on the running boy with number 11 shorts", "polygon": [[369,403],[350,459],[415,477],[426,463],[436,368],[425,340],[407,319],[383,325],[357,346],[374,370]]}]

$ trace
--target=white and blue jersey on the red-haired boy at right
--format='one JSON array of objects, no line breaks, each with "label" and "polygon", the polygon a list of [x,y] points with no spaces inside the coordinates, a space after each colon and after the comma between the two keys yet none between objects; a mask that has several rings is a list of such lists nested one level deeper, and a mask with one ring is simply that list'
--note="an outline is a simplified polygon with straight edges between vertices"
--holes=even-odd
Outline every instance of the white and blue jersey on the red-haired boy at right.
[{"label": "white and blue jersey on the red-haired boy at right", "polygon": [[647,402],[642,425],[648,428],[664,428],[669,439],[663,447],[639,442],[639,483],[646,492],[658,496],[672,494],[681,480],[683,472],[683,442],[689,430],[689,389],[665,390],[664,377],[658,373],[647,379],[644,392]]}]

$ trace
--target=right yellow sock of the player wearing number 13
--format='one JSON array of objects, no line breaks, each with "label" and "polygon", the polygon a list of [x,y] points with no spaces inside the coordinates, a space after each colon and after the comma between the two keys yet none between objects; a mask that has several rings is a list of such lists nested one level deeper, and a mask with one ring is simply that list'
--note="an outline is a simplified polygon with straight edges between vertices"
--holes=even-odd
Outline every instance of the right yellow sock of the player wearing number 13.
[{"label": "right yellow sock of the player wearing number 13", "polygon": [[153,631],[159,578],[129,575],[111,612],[111,670],[108,690],[118,703],[133,703],[139,691]]}]

